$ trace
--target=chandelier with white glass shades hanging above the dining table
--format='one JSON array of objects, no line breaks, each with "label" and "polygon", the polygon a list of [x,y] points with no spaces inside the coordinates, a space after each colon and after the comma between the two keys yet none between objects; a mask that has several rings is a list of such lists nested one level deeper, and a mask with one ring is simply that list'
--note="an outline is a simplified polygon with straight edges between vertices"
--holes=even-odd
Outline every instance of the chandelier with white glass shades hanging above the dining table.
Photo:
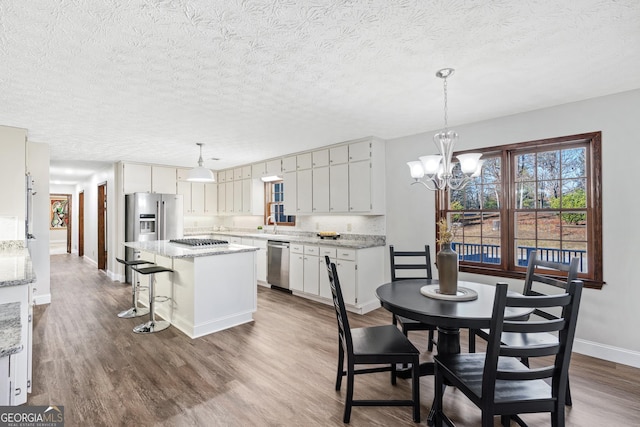
[{"label": "chandelier with white glass shades hanging above the dining table", "polygon": [[[458,134],[449,129],[447,123],[447,78],[453,75],[453,68],[443,68],[436,72],[436,77],[443,80],[444,86],[444,130],[433,136],[440,154],[421,156],[419,160],[407,162],[414,179],[412,184],[420,183],[429,190],[461,190],[482,171],[480,160],[482,153],[466,153],[456,156],[457,162],[453,162],[453,148],[458,140]],[[453,173],[453,168],[460,163],[460,171]]]}]

